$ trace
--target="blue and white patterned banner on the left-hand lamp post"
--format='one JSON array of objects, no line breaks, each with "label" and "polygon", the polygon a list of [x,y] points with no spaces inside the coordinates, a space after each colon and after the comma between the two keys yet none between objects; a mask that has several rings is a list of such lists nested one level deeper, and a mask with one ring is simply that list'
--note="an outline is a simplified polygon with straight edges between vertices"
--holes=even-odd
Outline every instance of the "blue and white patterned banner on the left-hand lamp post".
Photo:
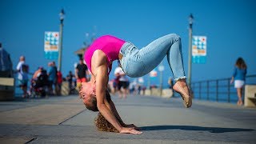
[{"label": "blue and white patterned banner on the left-hand lamp post", "polygon": [[45,58],[46,59],[58,59],[58,32],[46,31],[45,32]]}]

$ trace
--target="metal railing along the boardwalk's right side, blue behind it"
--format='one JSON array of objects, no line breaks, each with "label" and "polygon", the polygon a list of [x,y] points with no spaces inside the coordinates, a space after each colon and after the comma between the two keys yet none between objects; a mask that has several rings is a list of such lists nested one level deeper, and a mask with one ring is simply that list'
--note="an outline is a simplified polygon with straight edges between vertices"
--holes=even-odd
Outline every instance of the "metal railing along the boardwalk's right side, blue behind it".
[{"label": "metal railing along the boardwalk's right side, blue behind it", "polygon": [[[230,84],[230,80],[231,78],[221,78],[191,82],[194,98],[217,102],[236,102],[237,92],[234,83]],[[256,74],[246,76],[246,85],[256,85]]]}]

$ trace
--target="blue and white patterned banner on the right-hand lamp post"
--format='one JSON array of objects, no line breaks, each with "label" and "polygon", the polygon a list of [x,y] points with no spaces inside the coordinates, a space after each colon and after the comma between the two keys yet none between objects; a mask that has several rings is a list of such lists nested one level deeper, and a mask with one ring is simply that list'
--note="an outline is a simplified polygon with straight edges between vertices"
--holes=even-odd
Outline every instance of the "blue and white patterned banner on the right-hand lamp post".
[{"label": "blue and white patterned banner on the right-hand lamp post", "polygon": [[206,36],[193,36],[192,62],[206,63]]}]

